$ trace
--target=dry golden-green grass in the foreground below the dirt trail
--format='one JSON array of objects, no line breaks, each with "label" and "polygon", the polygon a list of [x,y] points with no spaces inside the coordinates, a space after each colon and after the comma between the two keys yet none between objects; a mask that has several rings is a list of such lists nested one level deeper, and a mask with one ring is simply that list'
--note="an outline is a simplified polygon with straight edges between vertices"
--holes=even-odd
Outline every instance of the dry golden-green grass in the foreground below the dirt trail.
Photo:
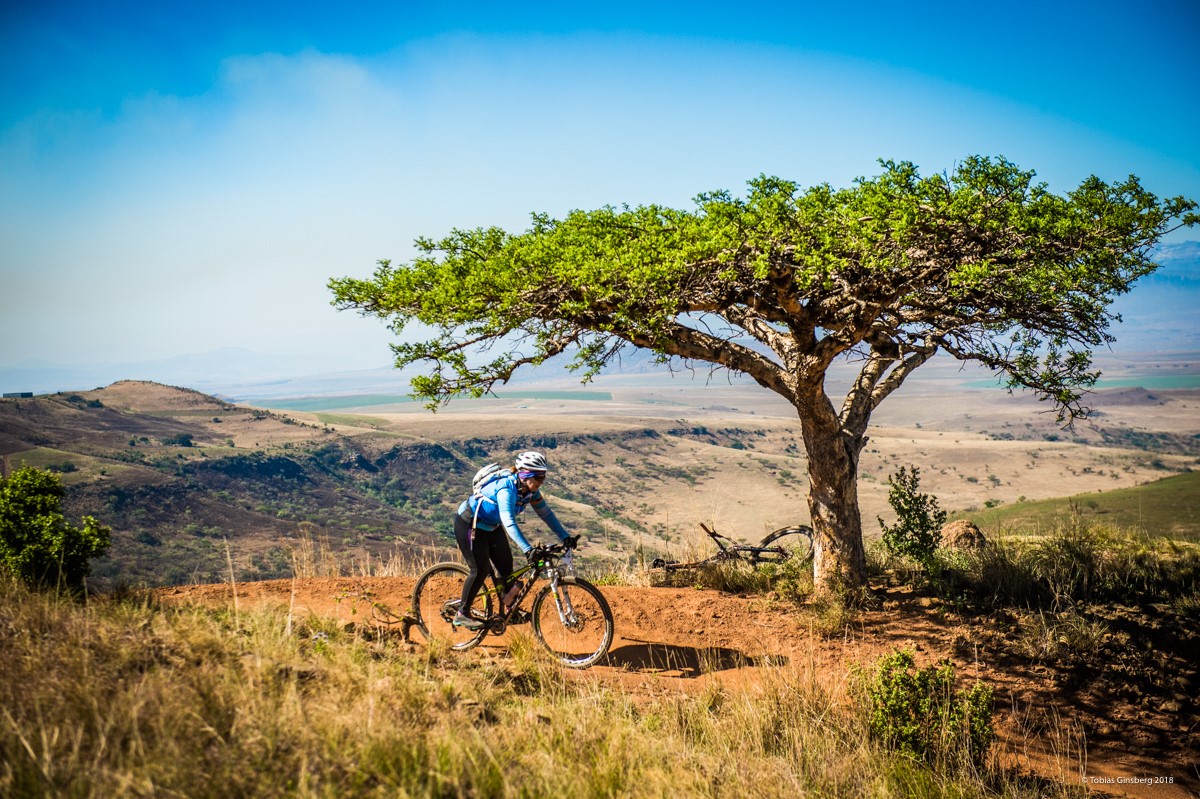
[{"label": "dry golden-green grass in the foreground below the dirt trail", "polygon": [[[283,611],[74,605],[0,582],[0,795],[1066,797],[918,763],[842,681],[636,695]],[[1064,764],[1063,773],[1070,773]]]}]

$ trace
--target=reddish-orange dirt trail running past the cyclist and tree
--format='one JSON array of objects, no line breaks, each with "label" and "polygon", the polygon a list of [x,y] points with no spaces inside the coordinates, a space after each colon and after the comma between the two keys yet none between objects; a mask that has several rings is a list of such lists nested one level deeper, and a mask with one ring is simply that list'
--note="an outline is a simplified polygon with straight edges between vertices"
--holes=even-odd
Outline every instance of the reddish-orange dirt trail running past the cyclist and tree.
[{"label": "reddish-orange dirt trail running past the cyclist and tree", "polygon": [[[341,577],[239,583],[240,608],[276,606],[298,619],[308,615],[344,623],[370,621],[370,601],[402,613],[413,578]],[[1198,732],[1188,721],[1120,708],[1112,697],[1072,686],[1045,666],[1006,659],[980,647],[970,620],[947,614],[936,602],[893,593],[881,611],[868,612],[839,637],[814,630],[812,617],[762,597],[690,588],[602,588],[616,615],[608,657],[577,679],[608,681],[634,692],[703,690],[719,683],[754,690],[778,669],[841,692],[852,663],[869,663],[899,647],[916,651],[918,665],[950,659],[966,679],[996,690],[1003,757],[1019,768],[1055,780],[1084,782],[1102,794],[1163,799],[1200,795]],[[163,588],[170,603],[229,606],[228,584]],[[503,656],[508,635],[487,638],[478,656]],[[421,636],[413,630],[415,645]],[[1194,721],[1194,720],[1192,720]],[[1031,727],[1046,729],[1031,735]],[[1078,753],[1084,729],[1086,758]],[[1075,743],[1067,741],[1075,731]],[[1060,753],[1067,747],[1072,751]],[[1172,780],[1156,783],[1154,780]]]}]

